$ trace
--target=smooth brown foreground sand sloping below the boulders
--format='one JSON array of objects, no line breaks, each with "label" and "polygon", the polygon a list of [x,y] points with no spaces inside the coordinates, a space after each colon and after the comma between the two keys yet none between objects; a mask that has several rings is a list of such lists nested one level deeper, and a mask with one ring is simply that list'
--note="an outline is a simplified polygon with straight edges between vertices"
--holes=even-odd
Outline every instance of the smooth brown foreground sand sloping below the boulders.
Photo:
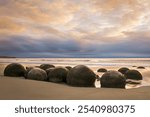
[{"label": "smooth brown foreground sand sloping below the boulders", "polygon": [[[71,87],[66,84],[57,84],[44,81],[34,81],[23,77],[6,77],[3,70],[7,64],[0,64],[0,99],[7,100],[147,100],[150,99],[150,86],[146,84],[139,88],[117,89],[117,88],[84,88]],[[31,64],[24,64],[31,66]],[[118,69],[119,67],[106,67],[107,69]],[[96,71],[97,67],[92,67]],[[142,75],[150,81],[149,68],[141,70]]]}]

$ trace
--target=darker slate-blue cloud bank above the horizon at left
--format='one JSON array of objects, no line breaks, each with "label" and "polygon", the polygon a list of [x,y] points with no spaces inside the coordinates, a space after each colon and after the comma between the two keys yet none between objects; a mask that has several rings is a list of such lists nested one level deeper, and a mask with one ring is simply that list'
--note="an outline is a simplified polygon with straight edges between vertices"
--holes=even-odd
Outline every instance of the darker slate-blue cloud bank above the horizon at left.
[{"label": "darker slate-blue cloud bank above the horizon at left", "polygon": [[[80,51],[78,43],[70,41],[56,41],[55,39],[35,40],[30,37],[1,37],[0,55],[15,55],[22,57],[45,57],[76,53]],[[60,54],[59,54],[60,53]],[[58,56],[57,55],[57,56]]]}]

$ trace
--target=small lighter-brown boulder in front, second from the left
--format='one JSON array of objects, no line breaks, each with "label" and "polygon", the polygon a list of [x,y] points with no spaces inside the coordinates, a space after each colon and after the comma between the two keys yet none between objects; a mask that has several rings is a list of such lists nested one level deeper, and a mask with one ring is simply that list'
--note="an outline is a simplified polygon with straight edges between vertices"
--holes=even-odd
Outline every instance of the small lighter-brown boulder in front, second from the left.
[{"label": "small lighter-brown boulder in front, second from the left", "polygon": [[27,79],[46,81],[47,74],[43,69],[33,68],[28,72]]}]

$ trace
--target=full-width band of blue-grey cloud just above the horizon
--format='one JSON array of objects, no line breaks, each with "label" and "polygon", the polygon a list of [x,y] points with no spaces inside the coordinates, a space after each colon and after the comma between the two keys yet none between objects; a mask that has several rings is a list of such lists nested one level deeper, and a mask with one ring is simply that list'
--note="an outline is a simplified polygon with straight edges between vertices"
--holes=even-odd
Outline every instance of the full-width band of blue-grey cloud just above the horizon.
[{"label": "full-width band of blue-grey cloud just above the horizon", "polygon": [[[28,39],[27,39],[28,38]],[[115,44],[94,44],[82,48],[75,41],[55,41],[30,37],[3,37],[0,55],[19,57],[150,57],[150,41],[145,37]]]}]

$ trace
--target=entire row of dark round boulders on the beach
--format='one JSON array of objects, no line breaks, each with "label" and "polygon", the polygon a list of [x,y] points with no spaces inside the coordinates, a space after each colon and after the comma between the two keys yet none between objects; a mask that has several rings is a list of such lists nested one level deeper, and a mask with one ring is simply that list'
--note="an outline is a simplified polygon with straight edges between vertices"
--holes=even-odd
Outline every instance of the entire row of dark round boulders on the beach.
[{"label": "entire row of dark round boulders on the beach", "polygon": [[9,64],[5,70],[5,76],[20,77],[26,79],[48,81],[54,83],[66,83],[76,87],[94,87],[95,80],[100,79],[101,87],[125,88],[128,79],[142,80],[142,75],[137,70],[130,70],[126,67],[118,71],[108,71],[100,68],[97,72],[103,72],[101,78],[85,65],[75,67],[55,67],[51,64],[42,64],[36,67],[26,67],[19,63]]}]

